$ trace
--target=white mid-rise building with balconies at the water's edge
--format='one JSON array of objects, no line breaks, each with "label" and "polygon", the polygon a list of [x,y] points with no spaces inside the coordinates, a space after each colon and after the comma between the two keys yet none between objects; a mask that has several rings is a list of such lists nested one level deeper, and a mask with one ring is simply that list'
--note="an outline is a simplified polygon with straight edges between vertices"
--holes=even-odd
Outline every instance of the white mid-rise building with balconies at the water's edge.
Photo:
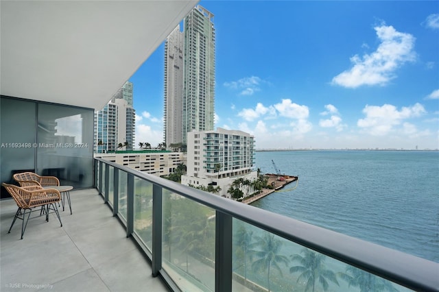
[{"label": "white mid-rise building with balconies at the water's edge", "polygon": [[230,197],[228,188],[238,178],[254,181],[254,136],[217,128],[216,131],[187,133],[187,175],[181,183],[219,186],[219,195]]}]

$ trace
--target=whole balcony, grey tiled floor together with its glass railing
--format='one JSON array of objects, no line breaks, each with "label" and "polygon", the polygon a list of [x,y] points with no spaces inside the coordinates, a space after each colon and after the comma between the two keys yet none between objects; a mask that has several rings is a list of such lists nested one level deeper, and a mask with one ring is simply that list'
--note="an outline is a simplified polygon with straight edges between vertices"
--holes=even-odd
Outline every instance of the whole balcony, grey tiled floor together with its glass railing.
[{"label": "whole balcony, grey tiled floor together with its glass railing", "polygon": [[[289,270],[300,256],[333,271],[332,291],[361,289],[342,273],[398,291],[438,291],[438,263],[105,160],[95,159],[95,170],[99,191],[73,191],[73,215],[61,212],[62,228],[54,215],[49,223],[31,219],[20,240],[19,226],[7,234],[16,206],[1,202],[2,291],[43,284],[55,291],[304,291],[307,279]],[[258,265],[270,252],[283,273]],[[43,264],[51,273],[40,273]]]}]

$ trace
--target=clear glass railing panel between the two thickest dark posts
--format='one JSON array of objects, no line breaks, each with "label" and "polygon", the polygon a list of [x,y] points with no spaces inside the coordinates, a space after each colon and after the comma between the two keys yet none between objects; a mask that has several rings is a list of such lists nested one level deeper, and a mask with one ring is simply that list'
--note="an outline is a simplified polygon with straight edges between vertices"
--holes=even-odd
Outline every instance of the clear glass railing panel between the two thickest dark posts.
[{"label": "clear glass railing panel between the two thickest dark posts", "polygon": [[163,190],[163,269],[182,291],[215,291],[215,210]]}]

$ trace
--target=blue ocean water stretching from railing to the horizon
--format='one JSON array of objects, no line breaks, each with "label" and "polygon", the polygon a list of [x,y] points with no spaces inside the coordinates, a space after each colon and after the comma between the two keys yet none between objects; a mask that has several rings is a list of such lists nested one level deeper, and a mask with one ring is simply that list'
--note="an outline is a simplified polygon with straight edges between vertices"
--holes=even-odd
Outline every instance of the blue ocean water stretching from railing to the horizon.
[{"label": "blue ocean water stretching from railing to the horizon", "polygon": [[439,263],[439,151],[258,151],[256,167],[272,160],[298,186],[252,206]]}]

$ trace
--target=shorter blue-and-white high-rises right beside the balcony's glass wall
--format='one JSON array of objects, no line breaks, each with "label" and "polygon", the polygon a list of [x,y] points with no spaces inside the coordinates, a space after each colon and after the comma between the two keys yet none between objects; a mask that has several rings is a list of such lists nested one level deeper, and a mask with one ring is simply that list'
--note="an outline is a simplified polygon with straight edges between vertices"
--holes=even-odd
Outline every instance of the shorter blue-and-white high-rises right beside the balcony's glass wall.
[{"label": "shorter blue-and-white high-rises right beside the balcony's glass wall", "polygon": [[135,110],[132,107],[132,82],[126,82],[102,109],[95,112],[93,152],[132,150],[135,138]]}]

